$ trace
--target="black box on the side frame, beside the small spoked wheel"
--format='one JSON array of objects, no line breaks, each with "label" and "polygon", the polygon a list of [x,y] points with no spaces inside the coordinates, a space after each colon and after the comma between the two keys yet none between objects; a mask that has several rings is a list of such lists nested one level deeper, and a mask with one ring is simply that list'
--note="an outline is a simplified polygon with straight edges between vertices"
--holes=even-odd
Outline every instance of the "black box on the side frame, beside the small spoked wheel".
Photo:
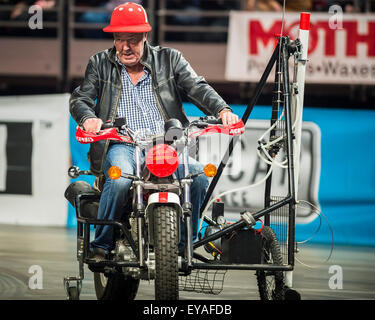
[{"label": "black box on the side frame, beside the small spoked wheel", "polygon": [[254,229],[233,231],[221,238],[221,261],[238,264],[260,264],[262,235]]}]

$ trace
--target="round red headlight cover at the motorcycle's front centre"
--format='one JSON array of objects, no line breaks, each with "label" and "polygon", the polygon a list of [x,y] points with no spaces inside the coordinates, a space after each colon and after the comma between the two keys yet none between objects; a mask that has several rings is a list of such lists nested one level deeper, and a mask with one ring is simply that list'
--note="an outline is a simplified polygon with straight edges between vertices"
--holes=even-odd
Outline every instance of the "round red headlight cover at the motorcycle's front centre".
[{"label": "round red headlight cover at the motorcycle's front centre", "polygon": [[166,144],[153,146],[146,155],[146,166],[157,177],[167,177],[177,170],[177,151]]}]

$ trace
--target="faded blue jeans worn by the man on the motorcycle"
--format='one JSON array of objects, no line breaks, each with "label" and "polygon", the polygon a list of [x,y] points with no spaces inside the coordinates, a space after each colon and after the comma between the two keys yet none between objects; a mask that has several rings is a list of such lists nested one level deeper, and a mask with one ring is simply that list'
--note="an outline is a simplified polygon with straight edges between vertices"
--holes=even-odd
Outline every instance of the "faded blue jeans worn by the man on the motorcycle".
[{"label": "faded blue jeans worn by the man on the motorcycle", "polygon": [[[142,159],[144,160],[144,159]],[[135,157],[134,147],[124,144],[114,144],[108,148],[108,153],[104,161],[104,174],[106,177],[102,195],[99,203],[98,219],[103,220],[120,220],[123,213],[123,205],[126,196],[132,184],[132,180],[119,178],[112,180],[108,178],[108,169],[111,166],[118,166],[122,172],[127,174],[135,174]],[[178,167],[180,177],[183,177],[182,164]],[[189,172],[202,172],[203,165],[193,158],[189,158]],[[208,188],[208,179],[205,175],[194,178],[190,186],[191,202],[192,202],[192,230],[193,240],[198,235],[198,225],[200,217],[200,207],[206,195]],[[184,227],[181,226],[181,242],[179,247],[184,246]],[[109,225],[97,225],[95,232],[95,240],[91,242],[92,247],[103,248],[109,252],[113,248],[114,229]]]}]

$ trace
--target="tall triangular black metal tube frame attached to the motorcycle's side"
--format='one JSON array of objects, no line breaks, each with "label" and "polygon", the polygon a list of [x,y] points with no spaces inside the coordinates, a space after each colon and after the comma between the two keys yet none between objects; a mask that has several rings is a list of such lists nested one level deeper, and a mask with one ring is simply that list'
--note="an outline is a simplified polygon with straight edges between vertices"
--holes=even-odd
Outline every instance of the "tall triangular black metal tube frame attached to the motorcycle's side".
[{"label": "tall triangular black metal tube frame attached to the motorcycle's side", "polygon": [[[265,221],[264,224],[269,226],[270,225],[270,214],[275,212],[276,210],[288,206],[289,214],[288,214],[288,258],[286,265],[257,265],[257,264],[250,264],[250,265],[233,265],[233,264],[214,264],[210,263],[209,266],[202,264],[202,263],[195,263],[194,268],[202,268],[202,269],[241,269],[241,270],[278,270],[278,271],[292,271],[294,268],[294,248],[295,248],[295,205],[296,205],[296,188],[295,188],[295,169],[294,169],[294,150],[293,150],[293,139],[294,134],[292,132],[292,115],[291,115],[291,92],[290,92],[290,81],[289,81],[289,57],[300,50],[300,41],[297,39],[294,42],[291,42],[288,37],[279,37],[279,42],[276,48],[273,51],[271,59],[269,60],[266,69],[255,89],[255,93],[253,98],[251,99],[250,103],[248,104],[246,111],[242,117],[242,121],[246,124],[257,100],[261,94],[261,91],[266,83],[266,80],[271,73],[272,68],[276,64],[276,72],[275,72],[275,97],[272,103],[272,118],[271,118],[271,126],[277,120],[277,110],[280,107],[280,95],[282,94],[284,97],[284,112],[285,112],[285,122],[286,122],[286,156],[288,159],[288,195],[280,199],[279,201],[271,204],[271,182],[272,182],[272,173],[268,176],[265,185],[265,208],[252,213],[252,217],[255,220],[258,220],[264,217]],[[279,72],[279,63],[281,63],[281,72]],[[282,78],[282,79],[281,79]],[[278,91],[279,85],[281,85],[282,80],[282,92]],[[271,131],[271,136],[273,135],[274,130]],[[225,168],[226,163],[228,163],[228,159],[231,156],[235,143],[239,140],[239,137],[233,137],[229,143],[228,149],[224,154],[224,157],[218,167],[218,172],[216,176],[213,178],[208,191],[206,198],[201,207],[201,213],[205,211],[205,207],[207,206],[208,199],[211,197],[213,190],[218,183],[220,176]],[[270,155],[275,156],[277,150],[271,150]],[[270,165],[268,166],[269,169]],[[268,170],[267,170],[268,171]],[[246,212],[243,212],[244,214]],[[210,225],[215,226],[217,223],[213,221],[211,218],[205,216],[204,221]],[[229,227],[223,228],[222,230],[211,234],[208,237],[196,242],[194,244],[194,249],[198,248],[202,245],[207,244],[208,242],[214,241],[229,232],[234,230],[240,230],[241,228],[247,227],[248,223],[245,219],[241,219],[238,222],[230,225]]]}]

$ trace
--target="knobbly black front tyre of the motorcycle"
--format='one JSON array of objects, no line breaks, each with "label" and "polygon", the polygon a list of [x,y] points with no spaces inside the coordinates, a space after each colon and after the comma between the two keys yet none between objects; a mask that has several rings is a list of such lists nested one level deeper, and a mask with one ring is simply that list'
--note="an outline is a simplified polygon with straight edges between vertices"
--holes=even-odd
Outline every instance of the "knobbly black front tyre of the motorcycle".
[{"label": "knobbly black front tyre of the motorcycle", "polygon": [[178,300],[178,228],[173,207],[153,212],[155,250],[155,299]]}]

